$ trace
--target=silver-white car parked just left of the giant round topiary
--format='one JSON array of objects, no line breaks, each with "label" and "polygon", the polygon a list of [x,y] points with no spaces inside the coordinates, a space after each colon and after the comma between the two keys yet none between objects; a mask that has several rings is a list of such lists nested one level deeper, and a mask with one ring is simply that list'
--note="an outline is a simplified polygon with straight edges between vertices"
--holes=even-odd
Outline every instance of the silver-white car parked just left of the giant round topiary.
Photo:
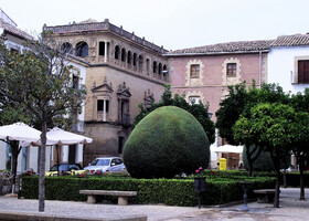
[{"label": "silver-white car parked just left of the giant round topiary", "polygon": [[88,175],[106,173],[106,172],[121,172],[126,166],[120,157],[98,157],[84,170]]}]

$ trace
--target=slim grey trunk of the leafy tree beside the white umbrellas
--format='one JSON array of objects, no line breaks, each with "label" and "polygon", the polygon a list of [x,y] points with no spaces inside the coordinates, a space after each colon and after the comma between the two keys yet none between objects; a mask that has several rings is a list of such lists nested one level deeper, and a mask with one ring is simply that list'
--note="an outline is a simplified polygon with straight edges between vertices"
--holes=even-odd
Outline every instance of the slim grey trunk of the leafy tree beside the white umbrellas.
[{"label": "slim grey trunk of the leafy tree beside the white umbrellas", "polygon": [[45,209],[45,151],[46,151],[46,120],[42,120],[42,146],[40,152],[40,178],[39,178],[39,212],[44,212]]}]

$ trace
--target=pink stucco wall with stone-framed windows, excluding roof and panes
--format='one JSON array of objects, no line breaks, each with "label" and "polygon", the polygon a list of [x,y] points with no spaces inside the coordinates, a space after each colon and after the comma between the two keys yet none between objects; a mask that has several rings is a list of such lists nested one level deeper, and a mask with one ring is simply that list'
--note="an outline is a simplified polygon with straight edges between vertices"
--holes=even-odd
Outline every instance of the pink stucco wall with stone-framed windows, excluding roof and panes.
[{"label": "pink stucco wall with stone-framed windows, excluding roof and panes", "polygon": [[[259,81],[265,82],[266,59],[267,54],[265,53],[262,56],[258,53],[247,53],[171,57],[169,66],[172,92],[185,93],[187,101],[189,101],[189,96],[200,96],[203,104],[210,104],[209,112],[213,113],[212,119],[215,120],[215,112],[220,107],[221,99],[228,95],[227,85],[235,85],[243,81],[249,85],[252,80],[255,80],[257,84]],[[262,77],[259,77],[260,61]],[[227,63],[237,64],[236,76],[226,76]],[[199,80],[190,80],[191,64],[200,64]]]}]

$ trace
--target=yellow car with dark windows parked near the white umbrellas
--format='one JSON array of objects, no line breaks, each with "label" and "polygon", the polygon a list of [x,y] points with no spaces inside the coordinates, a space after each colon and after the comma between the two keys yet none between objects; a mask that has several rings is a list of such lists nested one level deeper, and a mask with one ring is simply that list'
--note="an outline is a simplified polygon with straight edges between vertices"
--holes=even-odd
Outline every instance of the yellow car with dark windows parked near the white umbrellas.
[{"label": "yellow car with dark windows parked near the white umbrellas", "polygon": [[[78,164],[60,164],[58,165],[60,175],[81,175],[85,171]],[[51,169],[45,172],[45,176],[57,176],[57,165],[51,167]]]}]

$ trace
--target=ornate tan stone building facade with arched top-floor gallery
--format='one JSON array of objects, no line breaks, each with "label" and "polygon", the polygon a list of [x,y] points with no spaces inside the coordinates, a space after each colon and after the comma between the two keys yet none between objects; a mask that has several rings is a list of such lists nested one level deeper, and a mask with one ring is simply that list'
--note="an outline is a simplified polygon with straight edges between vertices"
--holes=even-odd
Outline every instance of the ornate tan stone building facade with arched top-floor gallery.
[{"label": "ornate tan stone building facade with arched top-floor gallery", "polygon": [[[93,25],[97,27],[96,31],[93,31]],[[86,166],[100,156],[121,156],[119,144],[124,145],[132,129],[131,124],[140,112],[138,105],[149,95],[158,102],[163,93],[163,85],[169,82],[167,74],[162,72],[168,70],[168,60],[162,56],[167,51],[108,21],[44,29],[52,31],[51,38],[58,45],[70,43],[73,55],[78,55],[78,42],[86,42],[88,46],[88,55],[77,57],[86,64],[84,135],[94,139],[84,148],[83,165]],[[84,31],[81,32],[81,29]],[[100,48],[103,45],[104,50]],[[108,113],[98,109],[98,101],[104,101],[105,105],[108,103]],[[120,119],[124,110],[121,105],[127,104],[129,112],[126,106],[126,116],[129,114],[129,117],[124,120]]]}]

